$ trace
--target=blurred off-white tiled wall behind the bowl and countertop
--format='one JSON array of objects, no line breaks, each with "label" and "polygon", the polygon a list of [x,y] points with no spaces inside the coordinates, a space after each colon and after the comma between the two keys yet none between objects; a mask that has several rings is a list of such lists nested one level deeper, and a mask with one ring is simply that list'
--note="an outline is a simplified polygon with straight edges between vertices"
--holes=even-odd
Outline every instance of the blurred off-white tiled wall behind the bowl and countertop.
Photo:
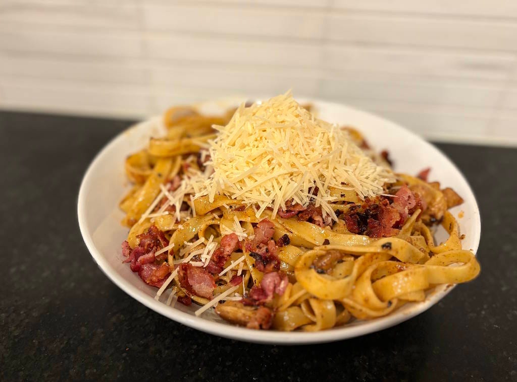
[{"label": "blurred off-white tiled wall behind the bowl and countertop", "polygon": [[143,118],[233,94],[345,102],[517,146],[517,2],[13,0],[0,108]]}]

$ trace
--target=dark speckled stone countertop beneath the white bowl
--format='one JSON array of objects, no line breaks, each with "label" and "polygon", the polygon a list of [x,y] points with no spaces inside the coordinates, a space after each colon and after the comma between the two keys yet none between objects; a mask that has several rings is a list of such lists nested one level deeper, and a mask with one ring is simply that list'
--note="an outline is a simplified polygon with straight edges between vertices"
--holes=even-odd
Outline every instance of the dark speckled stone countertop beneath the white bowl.
[{"label": "dark speckled stone countertop beneath the white bowl", "polygon": [[478,197],[478,279],[381,332],[269,346],[166,319],[90,257],[80,181],[129,123],[0,113],[0,380],[517,380],[516,149],[437,145]]}]

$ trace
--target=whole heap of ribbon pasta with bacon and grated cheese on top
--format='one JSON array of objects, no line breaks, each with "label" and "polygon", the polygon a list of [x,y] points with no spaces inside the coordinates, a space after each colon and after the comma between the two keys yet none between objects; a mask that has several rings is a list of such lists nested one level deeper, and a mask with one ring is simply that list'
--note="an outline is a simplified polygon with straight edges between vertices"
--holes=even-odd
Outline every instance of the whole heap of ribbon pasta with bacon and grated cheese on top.
[{"label": "whole heap of ribbon pasta with bacon and grated cheese on top", "polygon": [[156,299],[316,331],[479,274],[448,211],[463,202],[454,190],[430,169],[394,172],[355,128],[311,111],[290,92],[218,116],[172,107],[165,136],[127,157],[122,253]]}]

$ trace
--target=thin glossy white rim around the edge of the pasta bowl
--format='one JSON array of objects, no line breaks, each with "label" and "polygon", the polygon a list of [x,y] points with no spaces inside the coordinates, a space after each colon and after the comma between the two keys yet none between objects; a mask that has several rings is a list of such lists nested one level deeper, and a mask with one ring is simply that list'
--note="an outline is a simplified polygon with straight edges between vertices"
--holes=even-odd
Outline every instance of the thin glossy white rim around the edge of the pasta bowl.
[{"label": "thin glossy white rim around the edge of the pasta bowl", "polygon": [[[436,148],[434,145],[430,144],[428,141],[424,140],[418,134],[409,131],[403,128],[398,123],[387,120],[383,117],[377,116],[372,113],[364,112],[357,108],[336,103],[336,102],[328,102],[324,100],[318,99],[308,99],[302,100],[300,102],[309,101],[316,106],[327,106],[333,108],[346,108],[351,110],[357,115],[361,115],[369,118],[377,120],[379,123],[383,123],[389,126],[390,130],[394,129],[399,133],[403,133],[405,135],[411,136],[412,138],[416,138],[420,141],[420,143],[427,147],[428,150],[433,152],[433,155],[439,155],[445,157],[447,162],[455,171],[460,175],[460,182],[464,182],[466,188],[470,191],[469,196],[472,196],[473,202],[472,208],[477,212],[475,214],[475,219],[472,224],[475,225],[475,237],[473,243],[475,244],[473,248],[473,252],[476,254],[477,249],[479,247],[480,237],[481,237],[481,217],[479,206],[475,197],[475,194],[470,187],[468,181],[465,179],[463,173],[458,169],[458,167],[445,155],[442,151]],[[361,324],[355,326],[343,326],[338,328],[332,328],[330,330],[316,331],[316,332],[302,332],[302,331],[292,331],[292,332],[281,332],[275,330],[252,330],[244,327],[238,327],[234,325],[223,324],[220,322],[214,322],[204,319],[203,317],[197,317],[195,315],[182,312],[178,309],[171,308],[160,301],[157,301],[155,298],[149,296],[144,291],[136,288],[134,285],[129,283],[128,280],[120,275],[108,262],[107,259],[104,258],[103,254],[97,249],[94,240],[93,240],[93,232],[90,232],[87,228],[86,221],[86,189],[88,184],[92,182],[92,178],[94,176],[95,170],[98,167],[98,164],[101,162],[103,155],[109,152],[112,148],[114,148],[120,140],[125,139],[125,133],[128,130],[139,129],[142,125],[148,124],[151,120],[158,118],[147,118],[144,121],[138,122],[129,126],[128,129],[121,131],[115,137],[113,137],[94,157],[94,160],[89,164],[86,172],[84,173],[83,179],[81,181],[81,186],[79,189],[78,196],[78,221],[79,221],[79,229],[81,231],[81,235],[83,236],[83,240],[88,248],[92,258],[97,263],[102,272],[121,290],[125,293],[129,294],[131,297],[139,301],[141,304],[145,305],[147,308],[154,310],[155,312],[168,317],[176,322],[189,326],[191,328],[201,330],[212,335],[230,338],[234,340],[253,342],[253,343],[263,343],[263,344],[283,344],[283,345],[294,345],[294,344],[311,344],[311,343],[323,343],[323,342],[333,342],[340,341],[348,338],[354,338],[358,336],[365,335],[367,333],[383,330],[394,325],[397,325],[403,321],[409,320],[410,318],[423,313],[428,310],[434,304],[437,303],[440,299],[444,298],[452,289],[454,289],[455,285],[447,286],[440,285],[437,287],[437,290],[430,295],[424,301],[415,304],[408,311],[405,312],[393,312],[390,315],[380,317],[375,320],[363,321]]]}]

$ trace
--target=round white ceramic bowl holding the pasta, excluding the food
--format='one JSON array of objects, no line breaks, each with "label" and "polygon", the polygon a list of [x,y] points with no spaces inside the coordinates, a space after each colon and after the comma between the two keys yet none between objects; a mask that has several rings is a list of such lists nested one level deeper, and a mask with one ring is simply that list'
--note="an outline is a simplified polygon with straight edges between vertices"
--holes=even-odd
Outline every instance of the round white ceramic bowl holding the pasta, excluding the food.
[{"label": "round white ceramic bowl holding the pasta, excluding the food", "polygon": [[[474,252],[477,250],[481,222],[476,199],[461,172],[442,152],[414,133],[383,118],[340,104],[309,101],[320,118],[355,126],[376,150],[388,149],[397,171],[416,174],[425,167],[431,167],[431,180],[452,187],[465,200],[451,212],[458,217],[458,213],[463,211],[463,217],[458,219],[461,232],[466,235],[463,248]],[[206,111],[222,113],[226,107],[235,104],[236,100],[226,100],[205,103],[201,107]],[[196,317],[194,311],[199,307],[195,304],[191,307],[176,304],[171,308],[155,300],[156,288],[146,285],[138,274],[131,272],[128,264],[122,263],[120,243],[126,239],[128,229],[120,225],[123,213],[117,205],[128,188],[124,172],[126,156],[145,147],[150,136],[161,134],[163,126],[160,121],[160,117],[155,117],[136,124],[109,142],[86,171],[78,201],[79,226],[94,260],[118,287],[148,308],[179,323],[221,337],[258,343],[306,344],[357,337],[397,325],[429,309],[451,291],[452,288],[441,285],[428,293],[424,301],[404,305],[388,316],[354,321],[320,332],[252,330],[226,323],[213,309]],[[439,236],[444,232],[437,235],[437,240],[442,240],[443,237]]]}]

